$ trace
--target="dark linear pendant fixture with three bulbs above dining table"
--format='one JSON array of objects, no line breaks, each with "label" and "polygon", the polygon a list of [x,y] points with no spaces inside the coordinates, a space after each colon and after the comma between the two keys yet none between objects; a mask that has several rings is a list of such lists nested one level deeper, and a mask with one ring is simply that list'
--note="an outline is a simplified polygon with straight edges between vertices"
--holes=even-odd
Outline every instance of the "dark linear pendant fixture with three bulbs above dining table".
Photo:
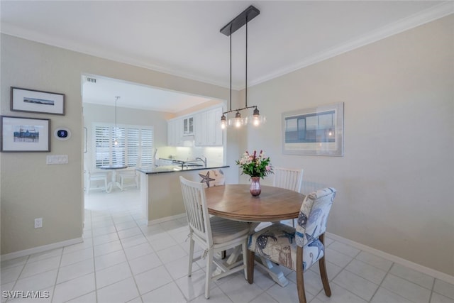
[{"label": "dark linear pendant fixture with three bulbs above dining table", "polygon": [[[224,111],[221,116],[221,128],[226,126],[235,126],[239,128],[246,124],[253,124],[253,126],[259,126],[265,122],[265,117],[260,116],[260,111],[256,105],[248,106],[248,22],[258,16],[260,11],[254,6],[249,6],[238,16],[233,18],[232,21],[227,23],[226,26],[221,28],[221,33],[230,36],[230,110]],[[246,26],[246,68],[245,68],[245,106],[241,109],[232,109],[232,34],[243,26]],[[252,116],[241,117],[240,111],[244,109],[254,109]],[[236,111],[235,118],[228,119],[226,114]]]}]

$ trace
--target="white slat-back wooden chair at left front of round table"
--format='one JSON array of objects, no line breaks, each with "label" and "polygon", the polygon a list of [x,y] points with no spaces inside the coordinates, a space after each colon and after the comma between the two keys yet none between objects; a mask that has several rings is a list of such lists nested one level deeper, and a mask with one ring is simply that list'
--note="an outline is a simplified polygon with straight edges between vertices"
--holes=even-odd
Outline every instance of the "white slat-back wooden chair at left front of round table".
[{"label": "white slat-back wooden chair at left front of round table", "polygon": [[[208,299],[211,281],[240,270],[244,270],[245,279],[247,279],[246,241],[250,225],[246,222],[223,219],[218,216],[210,217],[203,185],[199,182],[189,181],[182,176],[179,177],[179,180],[189,225],[188,276],[192,275],[192,263],[200,260],[200,258],[206,258],[205,298]],[[194,243],[197,243],[204,250],[204,253],[197,258],[194,258]],[[216,257],[216,253],[237,246],[242,247],[243,260],[227,266]],[[213,265],[220,268],[221,273],[213,275]]]}]

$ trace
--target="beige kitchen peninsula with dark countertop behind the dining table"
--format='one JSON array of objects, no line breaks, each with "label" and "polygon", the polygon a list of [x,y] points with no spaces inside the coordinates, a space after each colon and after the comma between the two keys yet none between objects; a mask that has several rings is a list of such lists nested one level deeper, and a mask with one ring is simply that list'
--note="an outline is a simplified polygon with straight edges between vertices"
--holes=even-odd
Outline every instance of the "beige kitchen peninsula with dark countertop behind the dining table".
[{"label": "beige kitchen peninsula with dark countertop behind the dining table", "polygon": [[136,168],[140,172],[140,207],[148,225],[184,216],[179,176],[200,182],[200,172],[218,169],[226,172],[229,166],[187,167],[184,170],[178,165]]}]

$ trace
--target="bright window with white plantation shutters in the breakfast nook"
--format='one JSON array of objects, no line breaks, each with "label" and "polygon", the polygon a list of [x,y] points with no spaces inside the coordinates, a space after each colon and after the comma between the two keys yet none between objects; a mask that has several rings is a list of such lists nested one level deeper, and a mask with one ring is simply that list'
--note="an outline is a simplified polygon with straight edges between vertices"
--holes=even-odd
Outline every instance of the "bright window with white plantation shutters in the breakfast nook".
[{"label": "bright window with white plantation shutters in the breakfast nook", "polygon": [[153,127],[94,123],[94,165],[153,164]]}]

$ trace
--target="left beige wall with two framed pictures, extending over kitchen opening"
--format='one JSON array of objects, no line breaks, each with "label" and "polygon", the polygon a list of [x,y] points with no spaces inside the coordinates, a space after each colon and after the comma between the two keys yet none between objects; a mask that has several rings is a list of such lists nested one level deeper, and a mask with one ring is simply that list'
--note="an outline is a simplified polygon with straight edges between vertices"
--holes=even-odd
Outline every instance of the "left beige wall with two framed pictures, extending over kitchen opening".
[{"label": "left beige wall with two framed pictures, extending over kitchen opening", "polygon": [[[69,141],[51,139],[50,153],[0,153],[1,255],[82,236],[82,75],[228,99],[226,88],[4,34],[0,63],[2,115],[50,119],[52,131],[57,126],[72,131]],[[10,111],[10,87],[65,94],[65,116]],[[231,141],[229,137],[227,140]],[[236,148],[234,144],[229,146],[229,154],[236,155]],[[68,155],[69,163],[46,165],[46,155]],[[236,174],[231,178],[238,180]],[[43,228],[33,228],[34,219],[40,217]]]}]

